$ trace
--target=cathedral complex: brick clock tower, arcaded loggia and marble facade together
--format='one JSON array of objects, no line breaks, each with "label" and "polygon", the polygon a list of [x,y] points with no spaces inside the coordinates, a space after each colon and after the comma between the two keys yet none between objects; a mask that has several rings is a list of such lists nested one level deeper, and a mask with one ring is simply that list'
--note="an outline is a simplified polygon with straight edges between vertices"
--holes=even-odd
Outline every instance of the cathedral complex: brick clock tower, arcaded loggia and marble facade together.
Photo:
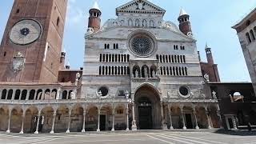
[{"label": "cathedral complex: brick clock tower, arcaded loggia and marble facade together", "polygon": [[0,49],[0,130],[53,134],[222,125],[209,85],[211,78],[219,80],[216,71],[215,77],[208,72],[215,66],[211,51],[206,46],[206,74],[185,10],[176,26],[163,19],[166,10],[134,0],[102,25],[95,3],[84,66],[70,70],[62,50],[66,5],[15,0]]}]

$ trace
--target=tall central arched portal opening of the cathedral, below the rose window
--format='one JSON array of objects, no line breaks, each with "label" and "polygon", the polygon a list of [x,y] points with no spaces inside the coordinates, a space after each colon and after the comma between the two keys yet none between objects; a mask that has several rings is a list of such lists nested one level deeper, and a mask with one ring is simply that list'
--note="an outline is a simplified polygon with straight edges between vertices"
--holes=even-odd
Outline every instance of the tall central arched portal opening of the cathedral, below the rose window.
[{"label": "tall central arched portal opening of the cathedral, below the rose window", "polygon": [[161,106],[158,91],[152,86],[141,86],[135,93],[135,119],[139,130],[161,128]]}]

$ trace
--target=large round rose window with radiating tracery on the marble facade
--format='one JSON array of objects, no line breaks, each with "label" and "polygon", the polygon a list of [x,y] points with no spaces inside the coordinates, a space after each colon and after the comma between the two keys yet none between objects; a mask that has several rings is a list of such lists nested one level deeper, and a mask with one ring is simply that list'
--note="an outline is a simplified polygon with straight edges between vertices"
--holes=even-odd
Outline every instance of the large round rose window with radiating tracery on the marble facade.
[{"label": "large round rose window with radiating tracery on the marble facade", "polygon": [[146,34],[136,34],[130,39],[130,50],[139,56],[148,56],[154,51],[154,41]]}]

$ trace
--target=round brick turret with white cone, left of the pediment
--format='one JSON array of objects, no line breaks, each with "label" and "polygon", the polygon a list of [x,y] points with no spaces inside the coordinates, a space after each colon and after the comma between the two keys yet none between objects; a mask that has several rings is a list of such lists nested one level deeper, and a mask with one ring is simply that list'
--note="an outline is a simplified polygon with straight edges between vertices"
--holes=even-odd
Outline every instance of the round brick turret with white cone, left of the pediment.
[{"label": "round brick turret with white cone, left of the pediment", "polygon": [[89,10],[89,21],[88,21],[88,31],[92,33],[98,32],[101,28],[101,15],[102,12],[99,9],[98,3],[94,2],[94,6]]}]

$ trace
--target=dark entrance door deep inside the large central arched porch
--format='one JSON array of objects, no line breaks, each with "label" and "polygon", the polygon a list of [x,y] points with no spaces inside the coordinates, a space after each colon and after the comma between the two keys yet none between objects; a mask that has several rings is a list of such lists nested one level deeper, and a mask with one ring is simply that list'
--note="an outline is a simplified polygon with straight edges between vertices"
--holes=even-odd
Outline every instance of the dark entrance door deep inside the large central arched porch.
[{"label": "dark entrance door deep inside the large central arched porch", "polygon": [[138,106],[138,126],[140,130],[152,129],[152,107]]}]

